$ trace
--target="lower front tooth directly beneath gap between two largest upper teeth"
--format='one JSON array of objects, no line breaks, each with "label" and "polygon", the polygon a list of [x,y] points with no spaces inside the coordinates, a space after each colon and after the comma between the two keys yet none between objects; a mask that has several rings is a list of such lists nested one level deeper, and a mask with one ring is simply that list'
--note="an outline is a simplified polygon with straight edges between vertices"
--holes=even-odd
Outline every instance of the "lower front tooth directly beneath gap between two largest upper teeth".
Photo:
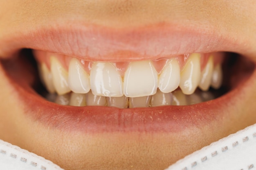
[{"label": "lower front tooth directly beneath gap between two largest upper teeth", "polygon": [[127,108],[128,107],[128,97],[108,97],[107,98],[108,106],[119,107],[119,108]]}]

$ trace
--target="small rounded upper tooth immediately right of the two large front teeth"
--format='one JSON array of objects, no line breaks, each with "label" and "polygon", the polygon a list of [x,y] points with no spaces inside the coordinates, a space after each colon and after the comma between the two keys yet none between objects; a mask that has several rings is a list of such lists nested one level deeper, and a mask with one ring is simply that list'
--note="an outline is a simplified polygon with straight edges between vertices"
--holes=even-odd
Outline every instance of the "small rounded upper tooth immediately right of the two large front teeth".
[{"label": "small rounded upper tooth immediately right of the two large front teeth", "polygon": [[159,76],[158,87],[163,93],[177,89],[180,84],[180,64],[176,59],[170,59]]}]

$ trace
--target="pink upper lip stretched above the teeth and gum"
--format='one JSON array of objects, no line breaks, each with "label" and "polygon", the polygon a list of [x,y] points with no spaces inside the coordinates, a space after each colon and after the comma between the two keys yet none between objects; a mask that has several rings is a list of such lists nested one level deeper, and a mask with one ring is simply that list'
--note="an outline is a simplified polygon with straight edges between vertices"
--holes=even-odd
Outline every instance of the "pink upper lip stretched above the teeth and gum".
[{"label": "pink upper lip stretched above the teeth and gum", "polygon": [[232,41],[229,33],[211,26],[155,24],[115,29],[83,23],[36,27],[0,37],[0,57],[11,57],[22,48],[45,50],[88,61],[135,61],[159,59],[193,52],[237,52],[252,56],[245,39]]}]

